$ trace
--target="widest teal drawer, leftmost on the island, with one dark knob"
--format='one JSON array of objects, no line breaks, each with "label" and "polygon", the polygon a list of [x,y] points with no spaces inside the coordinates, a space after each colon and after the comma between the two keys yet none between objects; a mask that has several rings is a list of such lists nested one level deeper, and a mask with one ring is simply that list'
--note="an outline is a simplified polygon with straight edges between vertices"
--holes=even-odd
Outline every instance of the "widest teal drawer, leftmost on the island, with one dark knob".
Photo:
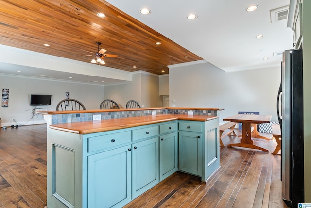
[{"label": "widest teal drawer, leftmost on the island, with one dark knob", "polygon": [[88,138],[88,152],[131,142],[131,131],[110,133]]}]

